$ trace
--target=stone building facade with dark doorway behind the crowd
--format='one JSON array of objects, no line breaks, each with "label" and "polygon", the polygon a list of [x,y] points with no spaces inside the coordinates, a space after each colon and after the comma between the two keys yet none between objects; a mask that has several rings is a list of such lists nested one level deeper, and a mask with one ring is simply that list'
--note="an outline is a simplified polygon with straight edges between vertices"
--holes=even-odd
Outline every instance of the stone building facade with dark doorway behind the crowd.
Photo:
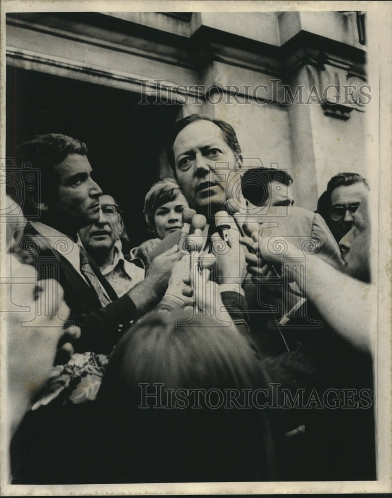
[{"label": "stone building facade with dark doorway behind the crowd", "polygon": [[[171,174],[168,127],[197,112],[234,125],[246,166],[287,169],[296,205],[313,211],[331,176],[367,175],[365,20],[356,11],[9,13],[8,154],[32,133],[67,132],[95,150],[122,204],[131,195],[140,210],[151,182]],[[142,173],[129,195],[111,179],[111,157],[131,178]]]}]

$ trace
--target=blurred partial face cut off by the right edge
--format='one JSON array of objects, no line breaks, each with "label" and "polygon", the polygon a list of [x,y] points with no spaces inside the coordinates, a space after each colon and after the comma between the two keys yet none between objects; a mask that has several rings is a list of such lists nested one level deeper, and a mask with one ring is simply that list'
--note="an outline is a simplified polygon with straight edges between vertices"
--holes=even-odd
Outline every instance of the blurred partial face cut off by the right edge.
[{"label": "blurred partial face cut off by the right edge", "polygon": [[347,272],[363,282],[370,282],[371,227],[366,197],[353,218],[353,226],[340,241],[339,246],[342,245],[347,249],[344,257]]}]

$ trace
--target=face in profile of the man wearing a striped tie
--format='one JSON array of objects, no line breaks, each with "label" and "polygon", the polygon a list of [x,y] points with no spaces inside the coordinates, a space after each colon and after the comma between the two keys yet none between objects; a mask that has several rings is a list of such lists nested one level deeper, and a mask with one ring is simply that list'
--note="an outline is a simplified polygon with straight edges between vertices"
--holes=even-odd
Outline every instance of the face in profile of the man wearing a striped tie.
[{"label": "face in profile of the man wearing a striped tie", "polygon": [[72,226],[75,232],[97,221],[102,190],[91,178],[87,157],[68,154],[54,166],[54,171],[59,177],[59,188],[56,200],[49,206],[51,217]]}]

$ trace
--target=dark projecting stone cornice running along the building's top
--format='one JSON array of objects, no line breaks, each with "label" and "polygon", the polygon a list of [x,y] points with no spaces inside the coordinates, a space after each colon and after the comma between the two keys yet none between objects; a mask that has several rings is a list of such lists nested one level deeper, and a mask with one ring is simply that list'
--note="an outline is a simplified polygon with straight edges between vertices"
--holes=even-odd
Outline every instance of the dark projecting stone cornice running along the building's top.
[{"label": "dark projecting stone cornice running along the building's top", "polygon": [[[220,61],[285,79],[289,73],[305,64],[319,63],[321,57],[330,65],[344,65],[354,74],[365,75],[364,48],[325,38],[301,30],[300,27],[293,29],[290,33],[294,33],[293,36],[281,46],[276,46],[200,23],[189,38],[172,32],[164,33],[156,27],[137,24],[137,14],[123,13],[123,18],[118,19],[111,17],[113,13],[93,12],[89,18],[84,17],[87,14],[81,13],[72,22],[72,17],[68,16],[64,20],[55,13],[19,13],[17,18],[8,15],[7,24],[196,71],[212,61]],[[139,14],[158,16],[158,13]],[[124,15],[131,17],[126,20]],[[286,19],[287,15],[285,12],[278,17]],[[89,19],[91,23],[87,24]],[[114,23],[113,29],[109,29],[111,23],[104,26],[104,20],[107,19]],[[116,27],[117,31],[114,29]],[[272,42],[275,43],[274,40]]]}]

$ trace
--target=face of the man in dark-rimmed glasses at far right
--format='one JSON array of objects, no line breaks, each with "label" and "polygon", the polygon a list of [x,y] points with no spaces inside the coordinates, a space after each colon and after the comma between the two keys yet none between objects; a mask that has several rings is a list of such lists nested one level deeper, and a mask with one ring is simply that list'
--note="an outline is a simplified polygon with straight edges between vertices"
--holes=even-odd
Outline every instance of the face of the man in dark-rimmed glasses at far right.
[{"label": "face of the man in dark-rimmed glasses at far right", "polygon": [[347,186],[342,185],[332,191],[329,216],[331,231],[337,242],[353,226],[353,214],[368,192],[369,189],[362,182]]}]

